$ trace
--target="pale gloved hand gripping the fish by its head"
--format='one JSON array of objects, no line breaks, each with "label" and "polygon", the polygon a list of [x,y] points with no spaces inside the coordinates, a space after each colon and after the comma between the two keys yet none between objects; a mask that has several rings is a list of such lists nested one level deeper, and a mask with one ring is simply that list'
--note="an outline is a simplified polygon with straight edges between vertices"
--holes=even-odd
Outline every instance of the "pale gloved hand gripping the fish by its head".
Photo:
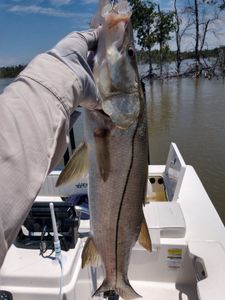
[{"label": "pale gloved hand gripping the fish by its head", "polygon": [[78,104],[94,109],[98,105],[98,92],[92,70],[87,63],[88,51],[97,48],[101,27],[94,30],[72,32],[48,53],[64,62],[79,80]]}]

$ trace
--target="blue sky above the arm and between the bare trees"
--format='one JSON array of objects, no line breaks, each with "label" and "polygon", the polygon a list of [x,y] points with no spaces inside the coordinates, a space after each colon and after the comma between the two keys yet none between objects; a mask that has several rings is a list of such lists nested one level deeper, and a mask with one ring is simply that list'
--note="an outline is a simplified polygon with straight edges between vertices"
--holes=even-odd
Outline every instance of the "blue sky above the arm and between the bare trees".
[{"label": "blue sky above the arm and between the bare trees", "polygon": [[[179,6],[186,1],[178,0]],[[173,0],[155,2],[159,2],[162,9],[173,7]],[[0,0],[0,67],[26,64],[69,32],[88,29],[97,3],[98,0]],[[208,46],[225,44],[225,22],[210,26],[211,31],[216,29],[217,36],[209,35]],[[193,48],[193,41],[191,35],[187,35],[184,48]],[[175,49],[175,40],[170,44]]]}]

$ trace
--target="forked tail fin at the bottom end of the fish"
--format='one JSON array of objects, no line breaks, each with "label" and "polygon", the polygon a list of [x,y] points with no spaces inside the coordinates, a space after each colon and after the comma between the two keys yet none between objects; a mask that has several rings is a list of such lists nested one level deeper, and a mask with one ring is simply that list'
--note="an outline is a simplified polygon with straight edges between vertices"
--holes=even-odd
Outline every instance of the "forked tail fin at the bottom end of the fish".
[{"label": "forked tail fin at the bottom end of the fish", "polygon": [[141,296],[135,292],[128,280],[123,280],[117,283],[115,287],[112,287],[106,280],[103,281],[102,285],[96,290],[93,296],[99,296],[101,293],[115,291],[124,300],[132,300],[141,298]]}]

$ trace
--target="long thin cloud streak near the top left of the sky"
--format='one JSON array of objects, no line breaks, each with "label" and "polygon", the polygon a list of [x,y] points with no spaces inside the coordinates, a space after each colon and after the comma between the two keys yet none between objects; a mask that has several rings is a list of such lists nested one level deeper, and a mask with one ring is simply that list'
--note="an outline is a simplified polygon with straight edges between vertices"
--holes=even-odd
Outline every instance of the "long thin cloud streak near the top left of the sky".
[{"label": "long thin cloud streak near the top left of the sky", "polygon": [[41,7],[38,5],[14,5],[11,6],[8,11],[14,13],[27,13],[27,14],[42,14],[42,15],[50,15],[54,17],[64,17],[70,18],[77,16],[76,13],[65,12],[60,9],[50,8],[50,7]]}]

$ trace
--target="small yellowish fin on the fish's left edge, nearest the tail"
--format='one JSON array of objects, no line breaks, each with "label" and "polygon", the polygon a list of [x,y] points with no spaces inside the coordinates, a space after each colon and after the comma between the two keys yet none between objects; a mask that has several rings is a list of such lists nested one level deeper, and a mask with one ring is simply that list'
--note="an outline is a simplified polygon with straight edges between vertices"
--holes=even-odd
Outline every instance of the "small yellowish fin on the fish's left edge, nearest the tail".
[{"label": "small yellowish fin on the fish's left edge, nearest the tail", "polygon": [[84,245],[82,252],[82,268],[92,266],[96,263],[99,257],[98,251],[91,237],[89,237]]}]

